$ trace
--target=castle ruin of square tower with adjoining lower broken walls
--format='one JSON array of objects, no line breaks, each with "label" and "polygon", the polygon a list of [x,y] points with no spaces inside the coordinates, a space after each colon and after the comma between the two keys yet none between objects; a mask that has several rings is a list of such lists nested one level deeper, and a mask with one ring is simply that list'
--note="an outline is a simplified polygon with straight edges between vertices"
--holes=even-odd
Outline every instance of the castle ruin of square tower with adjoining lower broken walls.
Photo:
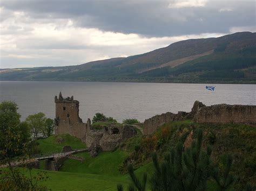
[{"label": "castle ruin of square tower with adjoining lower broken walls", "polygon": [[102,129],[94,129],[91,126],[90,118],[87,123],[83,123],[79,117],[79,102],[71,97],[55,96],[56,118],[55,134],[69,133],[78,137],[87,147],[99,148],[103,151],[112,151],[125,138],[130,138],[137,134],[136,129],[131,125],[110,125]]}]

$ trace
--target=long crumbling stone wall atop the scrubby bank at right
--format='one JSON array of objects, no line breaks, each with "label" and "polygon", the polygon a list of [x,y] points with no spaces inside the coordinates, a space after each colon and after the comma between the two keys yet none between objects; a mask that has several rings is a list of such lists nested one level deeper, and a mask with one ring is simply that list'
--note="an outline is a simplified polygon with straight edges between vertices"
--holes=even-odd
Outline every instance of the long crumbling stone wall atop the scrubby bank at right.
[{"label": "long crumbling stone wall atop the scrubby bank at right", "polygon": [[178,114],[167,112],[156,115],[144,122],[144,135],[150,135],[160,125],[172,121],[192,120],[198,123],[248,123],[256,124],[256,105],[227,105],[217,104],[206,106],[194,102],[191,112],[179,111]]}]

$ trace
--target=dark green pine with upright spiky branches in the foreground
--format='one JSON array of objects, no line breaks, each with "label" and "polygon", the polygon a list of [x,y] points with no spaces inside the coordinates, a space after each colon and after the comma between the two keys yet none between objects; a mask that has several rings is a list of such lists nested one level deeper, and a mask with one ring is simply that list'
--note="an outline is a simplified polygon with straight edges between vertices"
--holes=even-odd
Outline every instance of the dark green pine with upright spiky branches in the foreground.
[{"label": "dark green pine with upright spiky branches in the foreground", "polygon": [[151,178],[152,190],[205,190],[206,181],[211,176],[211,149],[203,151],[202,131],[198,132],[197,142],[183,150],[181,143],[175,150],[159,162],[157,155],[153,155],[155,171]]}]

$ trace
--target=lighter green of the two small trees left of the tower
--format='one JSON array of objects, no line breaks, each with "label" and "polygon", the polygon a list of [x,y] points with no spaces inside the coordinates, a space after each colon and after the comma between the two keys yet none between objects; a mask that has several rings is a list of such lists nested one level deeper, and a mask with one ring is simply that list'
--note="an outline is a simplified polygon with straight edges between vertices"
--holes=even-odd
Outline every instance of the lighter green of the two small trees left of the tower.
[{"label": "lighter green of the two small trees left of the tower", "polygon": [[43,134],[46,122],[45,114],[39,112],[38,114],[29,115],[26,118],[26,122],[29,125],[30,131],[34,139],[37,139],[40,133]]}]

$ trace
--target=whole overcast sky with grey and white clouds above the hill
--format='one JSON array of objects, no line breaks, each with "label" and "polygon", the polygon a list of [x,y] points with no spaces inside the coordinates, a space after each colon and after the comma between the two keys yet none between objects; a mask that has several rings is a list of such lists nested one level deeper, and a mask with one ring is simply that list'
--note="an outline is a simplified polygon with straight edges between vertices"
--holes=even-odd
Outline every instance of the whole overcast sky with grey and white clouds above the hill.
[{"label": "whole overcast sky with grey and white clouds above the hill", "polygon": [[254,0],[0,0],[0,68],[79,65],[255,32]]}]

